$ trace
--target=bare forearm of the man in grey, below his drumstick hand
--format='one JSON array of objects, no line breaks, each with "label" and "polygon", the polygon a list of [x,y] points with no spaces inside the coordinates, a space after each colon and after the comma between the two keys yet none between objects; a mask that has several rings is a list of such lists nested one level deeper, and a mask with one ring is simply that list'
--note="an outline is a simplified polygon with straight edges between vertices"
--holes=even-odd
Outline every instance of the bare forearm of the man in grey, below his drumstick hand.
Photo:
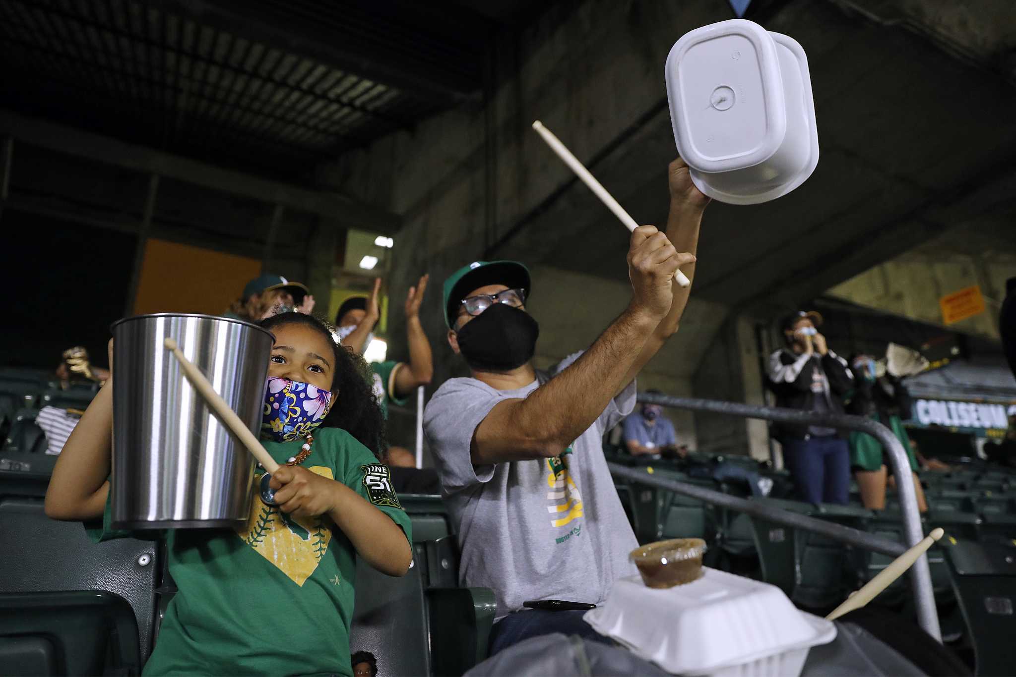
[{"label": "bare forearm of the man in grey, below his drumstick hand", "polygon": [[617,395],[657,318],[626,310],[573,364],[517,405],[515,423],[550,443],[546,455],[564,451]]}]

